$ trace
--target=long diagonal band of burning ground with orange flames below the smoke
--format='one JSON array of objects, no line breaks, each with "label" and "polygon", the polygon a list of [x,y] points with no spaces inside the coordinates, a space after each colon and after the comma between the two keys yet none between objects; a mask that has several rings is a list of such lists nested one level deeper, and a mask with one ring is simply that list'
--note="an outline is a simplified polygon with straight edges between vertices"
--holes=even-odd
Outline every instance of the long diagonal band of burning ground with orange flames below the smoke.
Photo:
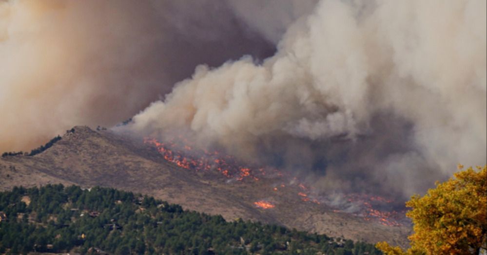
[{"label": "long diagonal band of burning ground with orange flames below the smoke", "polygon": [[[154,138],[144,138],[144,143],[156,147],[162,157],[180,168],[196,172],[217,172],[221,174],[226,182],[238,181],[258,182],[262,178],[275,179],[281,182],[272,187],[273,192],[269,192],[270,197],[279,196],[279,191],[292,188],[297,189],[296,196],[302,202],[312,202],[317,205],[324,203],[324,206],[331,206],[335,212],[347,212],[347,207],[351,204],[356,207],[352,213],[365,220],[377,221],[386,226],[401,226],[404,219],[404,211],[396,212],[392,210],[392,200],[379,196],[368,196],[365,194],[350,194],[344,199],[346,204],[333,206],[328,204],[327,194],[320,193],[309,184],[299,181],[291,173],[280,171],[272,167],[262,167],[256,164],[244,164],[234,156],[219,152],[197,148],[189,144],[183,137],[173,138],[169,141],[160,142]],[[285,184],[286,183],[286,184]],[[276,207],[267,200],[255,201],[254,205],[261,209]]]}]

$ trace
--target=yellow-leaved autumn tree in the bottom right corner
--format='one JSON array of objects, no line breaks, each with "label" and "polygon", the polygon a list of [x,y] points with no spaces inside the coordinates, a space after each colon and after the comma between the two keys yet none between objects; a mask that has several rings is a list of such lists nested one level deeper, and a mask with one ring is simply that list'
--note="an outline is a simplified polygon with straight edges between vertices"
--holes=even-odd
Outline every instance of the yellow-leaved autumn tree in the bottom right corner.
[{"label": "yellow-leaved autumn tree in the bottom right corner", "polygon": [[[463,169],[463,165],[459,165]],[[487,249],[487,165],[454,174],[436,183],[424,197],[414,195],[406,202],[412,208],[414,234],[411,248],[403,251],[386,242],[376,247],[386,255],[479,254]]]}]

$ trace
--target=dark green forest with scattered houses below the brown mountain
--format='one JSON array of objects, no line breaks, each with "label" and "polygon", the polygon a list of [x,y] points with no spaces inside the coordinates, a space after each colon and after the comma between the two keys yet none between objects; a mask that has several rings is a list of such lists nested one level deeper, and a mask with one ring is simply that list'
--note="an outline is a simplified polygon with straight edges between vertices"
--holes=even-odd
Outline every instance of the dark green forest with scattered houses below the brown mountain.
[{"label": "dark green forest with scattered houses below the brown mountain", "polygon": [[380,255],[373,244],[183,210],[113,188],[46,185],[0,193],[0,254]]}]

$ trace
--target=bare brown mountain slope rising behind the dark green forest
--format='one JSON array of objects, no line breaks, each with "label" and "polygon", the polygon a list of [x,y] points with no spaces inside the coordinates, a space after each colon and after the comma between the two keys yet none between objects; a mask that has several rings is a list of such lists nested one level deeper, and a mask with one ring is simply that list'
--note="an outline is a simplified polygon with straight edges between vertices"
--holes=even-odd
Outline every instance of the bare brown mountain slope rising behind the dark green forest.
[{"label": "bare brown mountain slope rising behind the dark green forest", "polygon": [[387,226],[312,202],[305,198],[303,185],[282,176],[234,181],[217,171],[185,169],[143,139],[106,129],[74,127],[34,156],[4,155],[0,176],[0,190],[48,183],[113,187],[227,220],[258,220],[371,243],[386,240],[406,246],[410,234],[408,224]]}]

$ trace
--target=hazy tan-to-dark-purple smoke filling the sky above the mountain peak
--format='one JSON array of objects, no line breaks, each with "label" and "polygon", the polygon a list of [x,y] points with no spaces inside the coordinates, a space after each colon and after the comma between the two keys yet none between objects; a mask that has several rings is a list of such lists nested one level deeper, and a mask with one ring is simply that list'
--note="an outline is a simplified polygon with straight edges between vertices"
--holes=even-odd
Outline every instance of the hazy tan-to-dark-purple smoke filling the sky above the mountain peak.
[{"label": "hazy tan-to-dark-purple smoke filling the sky above the mountain peak", "polygon": [[246,15],[276,2],[1,0],[0,151],[74,125],[115,125],[198,64],[272,55],[273,39],[312,10],[289,0],[276,15]]}]

